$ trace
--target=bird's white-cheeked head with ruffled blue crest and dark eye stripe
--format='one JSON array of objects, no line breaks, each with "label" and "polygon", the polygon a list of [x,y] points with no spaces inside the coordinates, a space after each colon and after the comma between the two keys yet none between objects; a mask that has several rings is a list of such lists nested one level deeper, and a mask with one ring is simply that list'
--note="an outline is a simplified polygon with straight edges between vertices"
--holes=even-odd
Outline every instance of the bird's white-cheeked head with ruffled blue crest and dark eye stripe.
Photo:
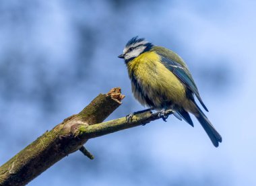
[{"label": "bird's white-cheeked head with ruffled blue crest and dark eye stripe", "polygon": [[147,42],[144,38],[138,38],[138,36],[131,38],[127,42],[125,49],[123,49],[123,54],[119,55],[119,58],[124,58],[125,62],[133,60],[143,52],[147,52],[152,48],[153,44]]}]

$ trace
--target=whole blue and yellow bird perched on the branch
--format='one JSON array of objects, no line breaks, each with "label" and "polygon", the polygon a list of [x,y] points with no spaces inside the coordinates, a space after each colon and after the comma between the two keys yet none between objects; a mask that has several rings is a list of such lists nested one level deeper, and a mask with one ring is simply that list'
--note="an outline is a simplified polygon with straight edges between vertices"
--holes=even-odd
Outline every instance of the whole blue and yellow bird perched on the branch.
[{"label": "whole blue and yellow bird perched on the branch", "polygon": [[177,118],[182,118],[193,126],[189,113],[195,115],[214,146],[222,142],[203,111],[195,102],[195,97],[203,108],[203,103],[195,81],[183,59],[161,46],[154,46],[144,38],[134,37],[127,42],[123,54],[131,89],[135,99],[143,106],[156,110],[172,109]]}]

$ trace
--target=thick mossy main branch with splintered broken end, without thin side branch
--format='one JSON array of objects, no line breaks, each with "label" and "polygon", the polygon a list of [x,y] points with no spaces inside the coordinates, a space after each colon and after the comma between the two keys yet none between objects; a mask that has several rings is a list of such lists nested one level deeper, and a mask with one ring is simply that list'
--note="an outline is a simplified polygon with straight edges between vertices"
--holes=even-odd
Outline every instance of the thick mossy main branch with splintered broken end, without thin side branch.
[{"label": "thick mossy main branch with splintered broken end, without thin side branch", "polygon": [[73,129],[102,122],[121,105],[123,97],[120,88],[100,94],[80,113],[42,134],[0,167],[0,185],[26,185],[55,162],[81,148],[87,139],[75,138]]}]

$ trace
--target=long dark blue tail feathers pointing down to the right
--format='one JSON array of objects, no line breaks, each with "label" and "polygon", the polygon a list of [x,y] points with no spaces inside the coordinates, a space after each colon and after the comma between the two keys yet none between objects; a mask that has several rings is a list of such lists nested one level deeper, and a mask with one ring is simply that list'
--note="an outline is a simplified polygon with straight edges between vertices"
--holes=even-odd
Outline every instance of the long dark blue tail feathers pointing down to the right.
[{"label": "long dark blue tail feathers pointing down to the right", "polygon": [[[196,104],[195,104],[196,105]],[[197,106],[197,105],[196,105]],[[209,136],[210,140],[214,144],[214,146],[218,147],[219,142],[222,142],[222,136],[217,132],[217,130],[212,126],[211,122],[208,120],[206,115],[201,111],[201,109],[197,106],[198,113],[195,115],[207,135]]]}]

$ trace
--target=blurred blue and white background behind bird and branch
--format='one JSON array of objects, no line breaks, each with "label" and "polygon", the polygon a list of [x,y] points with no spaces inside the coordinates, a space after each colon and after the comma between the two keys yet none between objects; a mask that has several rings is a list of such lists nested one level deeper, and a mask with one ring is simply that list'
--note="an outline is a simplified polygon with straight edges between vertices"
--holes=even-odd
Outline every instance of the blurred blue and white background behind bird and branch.
[{"label": "blurred blue and white background behind bird and branch", "polygon": [[0,164],[99,93],[107,120],[143,109],[123,60],[133,36],[187,62],[223,142],[171,116],[88,141],[30,185],[256,185],[256,2],[0,1]]}]

